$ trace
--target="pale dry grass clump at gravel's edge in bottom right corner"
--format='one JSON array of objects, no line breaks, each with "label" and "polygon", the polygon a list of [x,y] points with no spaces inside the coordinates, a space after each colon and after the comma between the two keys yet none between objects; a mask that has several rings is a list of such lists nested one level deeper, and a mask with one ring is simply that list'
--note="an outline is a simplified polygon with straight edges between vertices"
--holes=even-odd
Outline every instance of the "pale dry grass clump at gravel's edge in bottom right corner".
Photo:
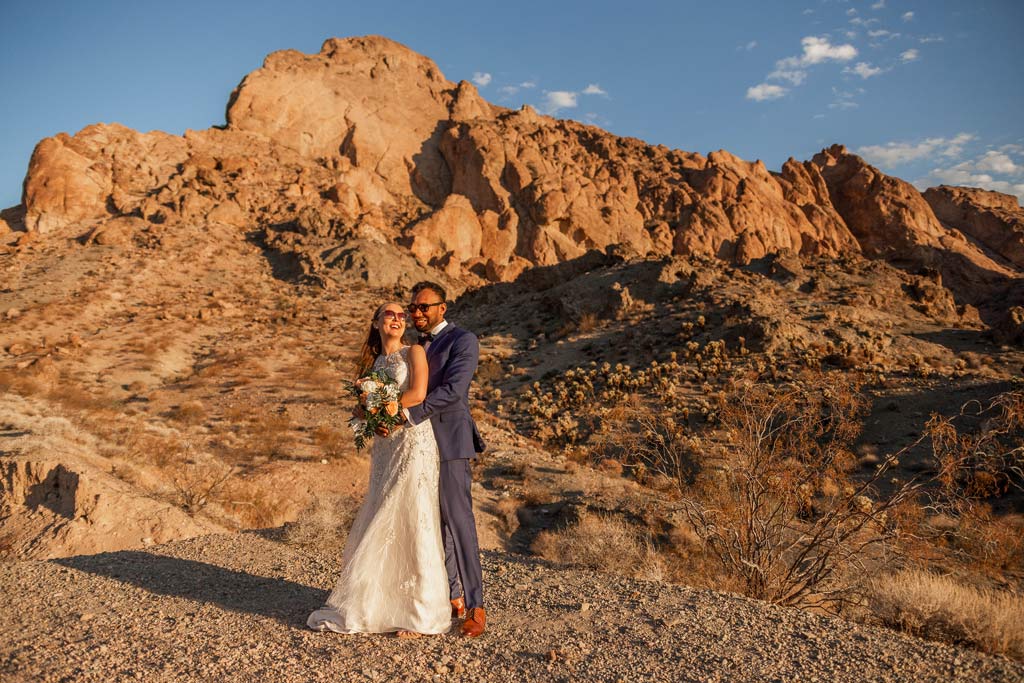
[{"label": "pale dry grass clump at gravel's edge in bottom right corner", "polygon": [[872,582],[868,597],[874,613],[890,627],[1024,658],[1024,595],[1019,593],[973,588],[907,569]]}]

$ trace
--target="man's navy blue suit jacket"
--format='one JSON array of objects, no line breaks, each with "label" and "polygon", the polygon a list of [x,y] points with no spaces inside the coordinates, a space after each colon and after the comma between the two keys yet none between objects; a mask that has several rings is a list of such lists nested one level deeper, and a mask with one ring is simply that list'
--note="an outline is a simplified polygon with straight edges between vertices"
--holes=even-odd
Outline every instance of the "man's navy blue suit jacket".
[{"label": "man's navy blue suit jacket", "polygon": [[414,425],[430,420],[442,461],[475,458],[485,447],[469,413],[469,385],[479,359],[476,335],[451,322],[427,349],[427,396],[409,409],[409,420]]}]

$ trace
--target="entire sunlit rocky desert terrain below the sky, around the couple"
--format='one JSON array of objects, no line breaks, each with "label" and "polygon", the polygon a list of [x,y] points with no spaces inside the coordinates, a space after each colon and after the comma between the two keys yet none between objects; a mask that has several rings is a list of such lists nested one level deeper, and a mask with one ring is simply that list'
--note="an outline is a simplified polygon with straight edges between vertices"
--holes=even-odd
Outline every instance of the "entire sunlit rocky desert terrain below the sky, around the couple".
[{"label": "entire sunlit rocky desert terrain below the sky, around the couple", "polygon": [[[1024,678],[1015,198],[506,110],[381,37],[225,97],[41,140],[0,213],[5,675]],[[341,381],[422,280],[480,338],[494,635],[328,643]]]}]

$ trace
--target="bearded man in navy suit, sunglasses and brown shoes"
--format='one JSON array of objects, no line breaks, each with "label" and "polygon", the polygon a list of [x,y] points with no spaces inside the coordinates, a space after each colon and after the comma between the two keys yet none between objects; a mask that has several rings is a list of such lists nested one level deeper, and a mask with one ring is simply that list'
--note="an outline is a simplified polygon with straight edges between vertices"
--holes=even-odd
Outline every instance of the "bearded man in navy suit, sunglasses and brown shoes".
[{"label": "bearded man in navy suit, sunglasses and brown shoes", "polygon": [[462,634],[483,633],[483,578],[473,518],[469,461],[483,452],[483,440],[469,414],[469,384],[476,372],[480,346],[476,336],[444,319],[444,288],[436,283],[413,287],[409,306],[419,343],[427,351],[427,396],[406,410],[406,419],[417,425],[430,420],[440,453],[441,537],[449,575],[452,615],[466,621]]}]

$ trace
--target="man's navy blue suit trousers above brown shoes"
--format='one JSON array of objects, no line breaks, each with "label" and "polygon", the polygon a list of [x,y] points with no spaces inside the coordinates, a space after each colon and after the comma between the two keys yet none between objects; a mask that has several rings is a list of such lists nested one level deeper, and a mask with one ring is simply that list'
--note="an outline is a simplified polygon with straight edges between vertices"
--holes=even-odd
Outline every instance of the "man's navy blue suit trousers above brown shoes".
[{"label": "man's navy blue suit trousers above brown shoes", "polygon": [[464,596],[466,607],[483,606],[483,572],[473,517],[470,461],[442,460],[440,468],[441,538],[452,599]]}]

